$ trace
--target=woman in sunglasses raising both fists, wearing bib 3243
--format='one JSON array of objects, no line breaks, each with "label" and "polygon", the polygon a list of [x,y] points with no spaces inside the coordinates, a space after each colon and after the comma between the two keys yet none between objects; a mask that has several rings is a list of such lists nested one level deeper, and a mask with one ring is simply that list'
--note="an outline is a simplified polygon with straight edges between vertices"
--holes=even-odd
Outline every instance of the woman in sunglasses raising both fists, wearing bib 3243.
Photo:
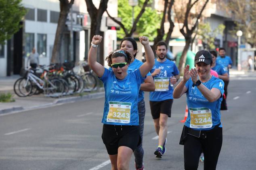
[{"label": "woman in sunglasses raising both fists, wearing bib 3243", "polygon": [[102,118],[103,143],[107,148],[112,170],[129,169],[132,152],[141,143],[138,121],[138,92],[141,83],[154,65],[154,54],[148,37],[139,40],[145,48],[147,61],[137,70],[128,73],[132,57],[125,50],[117,50],[107,58],[112,71],[96,61],[97,45],[102,36],[94,35],[88,55],[92,70],[100,77],[105,88],[105,106]]}]

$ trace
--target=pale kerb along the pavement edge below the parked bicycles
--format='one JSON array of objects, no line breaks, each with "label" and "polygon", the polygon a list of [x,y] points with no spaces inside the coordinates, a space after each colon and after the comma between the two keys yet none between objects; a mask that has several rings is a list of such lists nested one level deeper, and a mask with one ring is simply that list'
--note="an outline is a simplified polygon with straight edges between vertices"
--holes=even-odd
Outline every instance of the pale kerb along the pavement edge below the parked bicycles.
[{"label": "pale kerb along the pavement edge below the parked bicycles", "polygon": [[40,106],[33,106],[30,108],[23,108],[22,106],[14,106],[12,108],[7,108],[7,109],[0,109],[0,115],[1,114],[7,114],[10,112],[21,112],[25,110],[31,110],[31,109],[39,109],[39,108],[45,108],[47,106],[52,106],[55,104],[61,104],[61,103],[69,103],[69,102],[78,102],[78,101],[86,101],[86,100],[91,100],[91,99],[99,99],[105,96],[105,92],[98,92],[98,93],[92,93],[88,95],[83,95],[83,96],[76,96],[76,97],[66,97],[62,99],[56,99],[52,103],[47,103],[47,104],[42,104]]}]

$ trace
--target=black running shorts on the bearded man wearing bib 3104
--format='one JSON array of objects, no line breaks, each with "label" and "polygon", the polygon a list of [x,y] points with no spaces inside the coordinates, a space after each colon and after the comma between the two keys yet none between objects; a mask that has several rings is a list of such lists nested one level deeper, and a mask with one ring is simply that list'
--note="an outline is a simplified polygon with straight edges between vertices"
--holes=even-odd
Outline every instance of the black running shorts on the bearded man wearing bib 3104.
[{"label": "black running shorts on the bearded man wearing bib 3104", "polygon": [[152,118],[158,119],[160,117],[160,113],[167,114],[168,117],[171,117],[172,103],[173,99],[159,102],[149,101]]}]

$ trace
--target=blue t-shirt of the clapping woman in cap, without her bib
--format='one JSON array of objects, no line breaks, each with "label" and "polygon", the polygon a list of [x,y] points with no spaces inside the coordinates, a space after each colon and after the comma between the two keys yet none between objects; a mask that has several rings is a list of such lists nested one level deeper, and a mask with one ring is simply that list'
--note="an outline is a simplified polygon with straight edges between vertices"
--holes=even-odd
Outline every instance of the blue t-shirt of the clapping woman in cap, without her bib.
[{"label": "blue t-shirt of the clapping woman in cap, without her bib", "polygon": [[[209,102],[204,95],[202,95],[201,91],[196,86],[192,86],[193,82],[191,78],[187,81],[185,86],[187,87],[187,106],[189,110],[189,114],[187,117],[187,120],[185,122],[185,126],[190,127],[190,108],[208,108],[212,112],[212,127],[211,128],[205,128],[205,129],[195,129],[195,130],[210,130],[213,129],[214,126],[218,125],[220,123],[220,104],[222,102],[222,95],[224,93],[224,82],[212,76],[212,78],[202,83],[204,84],[208,89],[216,88],[220,90],[221,97],[216,100],[215,102]],[[222,124],[220,124],[219,127],[222,127]],[[193,128],[194,129],[194,128]]]}]

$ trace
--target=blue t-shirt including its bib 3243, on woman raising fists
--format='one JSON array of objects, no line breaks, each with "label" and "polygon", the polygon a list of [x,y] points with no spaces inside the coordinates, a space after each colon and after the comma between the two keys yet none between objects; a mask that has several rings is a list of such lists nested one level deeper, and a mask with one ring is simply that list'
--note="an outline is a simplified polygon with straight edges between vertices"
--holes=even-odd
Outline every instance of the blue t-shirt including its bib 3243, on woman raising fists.
[{"label": "blue t-shirt including its bib 3243, on woman raising fists", "polygon": [[[137,69],[127,73],[124,79],[119,80],[115,77],[113,71],[105,68],[103,76],[99,78],[103,81],[105,89],[102,123],[138,125],[138,91],[145,78],[141,76],[140,70]],[[114,108],[110,109],[111,107]],[[130,112],[130,116],[129,114],[127,115],[127,112]],[[124,120],[125,122],[121,122],[120,120]]]}]

